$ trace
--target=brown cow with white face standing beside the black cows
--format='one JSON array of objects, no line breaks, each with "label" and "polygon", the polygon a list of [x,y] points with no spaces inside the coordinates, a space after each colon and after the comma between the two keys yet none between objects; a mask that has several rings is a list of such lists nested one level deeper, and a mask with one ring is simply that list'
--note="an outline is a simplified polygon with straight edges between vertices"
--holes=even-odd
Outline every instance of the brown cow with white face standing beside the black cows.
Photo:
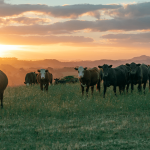
[{"label": "brown cow with white face standing beside the black cows", "polygon": [[78,77],[81,84],[82,96],[84,94],[84,87],[86,87],[86,95],[88,96],[89,87],[91,86],[91,91],[93,95],[94,85],[97,85],[97,89],[100,92],[100,72],[94,67],[92,69],[87,70],[87,67],[83,68],[80,66],[79,68],[74,68],[78,70]]}]

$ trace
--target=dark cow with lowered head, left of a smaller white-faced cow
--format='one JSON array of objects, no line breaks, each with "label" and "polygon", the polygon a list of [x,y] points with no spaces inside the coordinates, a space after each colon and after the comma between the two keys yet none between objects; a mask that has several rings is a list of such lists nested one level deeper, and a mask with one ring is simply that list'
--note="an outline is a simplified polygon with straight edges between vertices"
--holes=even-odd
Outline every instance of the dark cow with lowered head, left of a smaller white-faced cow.
[{"label": "dark cow with lowered head, left of a smaller white-faced cow", "polygon": [[27,73],[26,76],[25,76],[24,84],[29,86],[30,84],[32,85],[32,83],[34,83],[34,84],[36,83],[36,74],[35,74],[35,72]]}]

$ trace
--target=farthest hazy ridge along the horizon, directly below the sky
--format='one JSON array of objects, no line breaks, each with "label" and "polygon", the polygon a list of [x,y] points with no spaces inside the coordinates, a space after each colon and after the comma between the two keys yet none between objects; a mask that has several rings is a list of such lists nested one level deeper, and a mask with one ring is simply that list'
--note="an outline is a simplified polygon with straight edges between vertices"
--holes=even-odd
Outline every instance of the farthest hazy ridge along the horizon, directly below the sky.
[{"label": "farthest hazy ridge along the horizon, directly below the sky", "polygon": [[101,59],[95,61],[69,61],[69,62],[61,62],[56,59],[45,59],[45,60],[37,60],[37,61],[26,61],[26,60],[18,60],[18,59],[10,59],[0,58],[1,64],[8,64],[15,68],[64,68],[64,67],[76,67],[76,66],[86,66],[86,67],[97,67],[98,65],[103,64],[111,64],[113,67],[116,67],[121,64],[126,63],[145,63],[150,64],[150,56],[142,55],[139,57],[134,57],[132,59],[127,60],[109,60],[109,59]]}]

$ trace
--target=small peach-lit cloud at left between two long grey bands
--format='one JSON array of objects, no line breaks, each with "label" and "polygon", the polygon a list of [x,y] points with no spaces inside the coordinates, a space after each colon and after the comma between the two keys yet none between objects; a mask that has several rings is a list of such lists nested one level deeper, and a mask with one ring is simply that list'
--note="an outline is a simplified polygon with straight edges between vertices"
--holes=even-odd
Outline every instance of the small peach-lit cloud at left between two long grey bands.
[{"label": "small peach-lit cloud at left between two long grey bands", "polygon": [[44,24],[50,23],[50,19],[47,18],[29,18],[29,17],[18,17],[18,18],[0,18],[0,25],[10,25],[10,24],[24,24],[24,25],[33,25],[33,24]]}]

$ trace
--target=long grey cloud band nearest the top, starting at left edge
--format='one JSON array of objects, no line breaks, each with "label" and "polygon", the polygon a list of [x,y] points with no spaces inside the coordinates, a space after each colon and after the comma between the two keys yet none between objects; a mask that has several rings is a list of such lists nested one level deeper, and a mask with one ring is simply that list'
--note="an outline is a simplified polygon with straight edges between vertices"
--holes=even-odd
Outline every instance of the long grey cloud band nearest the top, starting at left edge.
[{"label": "long grey cloud band nearest the top, starting at left edge", "polygon": [[[15,16],[25,12],[39,12],[47,14],[57,18],[78,18],[85,13],[93,12],[94,17],[100,17],[98,10],[117,9],[122,7],[121,5],[92,5],[92,4],[76,4],[76,5],[64,5],[64,6],[48,6],[40,4],[19,4],[11,5],[6,3],[0,3],[0,16]],[[89,13],[90,15],[90,13]],[[93,15],[92,15],[93,16]]]}]

